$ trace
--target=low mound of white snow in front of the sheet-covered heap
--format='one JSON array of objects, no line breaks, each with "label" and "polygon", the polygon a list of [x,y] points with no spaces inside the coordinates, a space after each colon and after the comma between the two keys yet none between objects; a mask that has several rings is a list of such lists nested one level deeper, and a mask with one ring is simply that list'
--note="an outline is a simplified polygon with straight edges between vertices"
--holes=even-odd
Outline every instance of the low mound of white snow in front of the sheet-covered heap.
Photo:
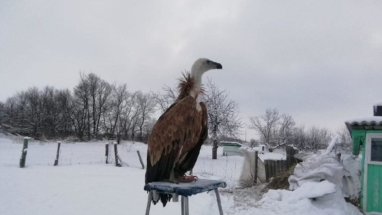
[{"label": "low mound of white snow in front of the sheet-covered heap", "polygon": [[306,182],[295,191],[269,190],[259,202],[261,209],[283,215],[361,215],[343,199],[329,181]]}]

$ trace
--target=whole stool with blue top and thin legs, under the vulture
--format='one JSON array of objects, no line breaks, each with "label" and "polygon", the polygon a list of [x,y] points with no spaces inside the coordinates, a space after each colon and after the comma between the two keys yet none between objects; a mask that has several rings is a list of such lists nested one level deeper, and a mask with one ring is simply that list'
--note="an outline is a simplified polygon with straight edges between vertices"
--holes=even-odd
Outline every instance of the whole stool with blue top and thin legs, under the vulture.
[{"label": "whole stool with blue top and thin legs, under the vulture", "polygon": [[224,181],[197,179],[195,182],[190,183],[169,183],[169,182],[152,182],[144,186],[145,191],[149,191],[147,200],[146,215],[150,213],[151,202],[153,199],[159,198],[159,193],[172,194],[172,201],[178,202],[181,196],[181,212],[182,215],[189,215],[188,197],[196,195],[201,192],[214,190],[216,195],[217,206],[219,214],[223,215],[222,203],[220,201],[218,188],[225,188],[227,184]]}]

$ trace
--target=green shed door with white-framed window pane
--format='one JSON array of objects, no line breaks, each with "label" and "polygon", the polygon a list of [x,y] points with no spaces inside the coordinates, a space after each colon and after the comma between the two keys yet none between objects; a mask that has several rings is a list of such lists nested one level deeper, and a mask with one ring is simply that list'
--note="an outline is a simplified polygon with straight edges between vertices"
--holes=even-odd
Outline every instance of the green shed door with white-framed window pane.
[{"label": "green shed door with white-framed window pane", "polygon": [[382,214],[382,134],[367,134],[366,139],[364,208]]}]

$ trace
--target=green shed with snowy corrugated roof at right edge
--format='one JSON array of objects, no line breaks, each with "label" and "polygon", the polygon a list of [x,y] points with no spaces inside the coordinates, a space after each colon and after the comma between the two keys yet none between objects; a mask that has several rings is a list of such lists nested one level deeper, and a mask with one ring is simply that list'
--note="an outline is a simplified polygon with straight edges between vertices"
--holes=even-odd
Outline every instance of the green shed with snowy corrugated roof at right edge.
[{"label": "green shed with snowy corrugated roof at right edge", "polygon": [[361,208],[373,215],[382,215],[382,114],[378,108],[374,105],[372,117],[345,121],[353,139],[353,155],[359,155],[362,147]]}]

